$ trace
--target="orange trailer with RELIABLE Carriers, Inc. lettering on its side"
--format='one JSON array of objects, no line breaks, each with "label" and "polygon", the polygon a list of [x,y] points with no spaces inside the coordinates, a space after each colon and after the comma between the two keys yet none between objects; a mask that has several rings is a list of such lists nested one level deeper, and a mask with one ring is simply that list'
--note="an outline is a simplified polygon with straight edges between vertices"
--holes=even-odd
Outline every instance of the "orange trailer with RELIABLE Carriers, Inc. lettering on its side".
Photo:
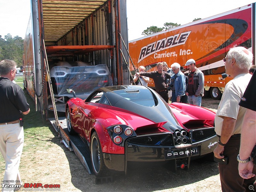
[{"label": "orange trailer with RELIABLE Carriers, Inc. lettering on its side", "polygon": [[[221,74],[225,73],[223,58],[234,45],[251,51],[255,65],[255,3],[129,41],[129,53],[135,68],[142,65],[146,71],[156,70],[162,61],[168,67],[177,62],[186,70],[186,61],[194,59],[204,73],[205,96],[217,100],[232,79]],[[134,71],[131,63],[130,69]],[[148,86],[155,88],[152,79]]]}]

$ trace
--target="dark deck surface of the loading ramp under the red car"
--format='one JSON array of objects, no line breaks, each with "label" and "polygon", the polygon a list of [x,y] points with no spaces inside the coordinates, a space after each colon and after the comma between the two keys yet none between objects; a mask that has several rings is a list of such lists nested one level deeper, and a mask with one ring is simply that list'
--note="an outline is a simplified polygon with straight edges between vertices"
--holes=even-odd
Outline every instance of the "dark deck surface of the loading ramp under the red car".
[{"label": "dark deck surface of the loading ramp under the red car", "polygon": [[[72,147],[74,148],[74,151],[76,153],[76,156],[80,159],[86,170],[92,174],[92,163],[91,163],[91,155],[90,155],[90,148],[88,145],[84,144],[84,141],[81,139],[79,135],[70,135],[68,133],[68,127],[67,127],[67,120],[66,117],[58,117],[59,123],[63,131],[68,135],[70,138]],[[49,118],[49,121],[52,123],[52,126],[54,129],[58,131],[58,128],[55,124],[55,118]],[[66,146],[67,147],[67,146]],[[77,148],[77,150],[75,149]],[[78,154],[77,154],[78,153]]]}]

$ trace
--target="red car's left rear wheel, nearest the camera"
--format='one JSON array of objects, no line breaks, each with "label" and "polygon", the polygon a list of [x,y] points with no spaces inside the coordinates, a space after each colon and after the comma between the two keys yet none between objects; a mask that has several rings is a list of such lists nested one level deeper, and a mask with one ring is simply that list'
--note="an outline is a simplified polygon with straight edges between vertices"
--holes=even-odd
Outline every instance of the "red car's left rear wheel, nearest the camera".
[{"label": "red car's left rear wheel, nearest the camera", "polygon": [[107,167],[104,163],[103,153],[100,146],[100,139],[96,132],[92,133],[90,142],[92,169],[96,177],[106,176]]}]

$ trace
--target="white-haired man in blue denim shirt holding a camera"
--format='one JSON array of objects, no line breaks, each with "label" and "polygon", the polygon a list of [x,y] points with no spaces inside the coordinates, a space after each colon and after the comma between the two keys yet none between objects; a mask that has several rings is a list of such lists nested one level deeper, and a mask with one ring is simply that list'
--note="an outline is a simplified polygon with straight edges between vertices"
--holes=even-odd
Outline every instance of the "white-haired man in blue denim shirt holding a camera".
[{"label": "white-haired man in blue denim shirt holding a camera", "polygon": [[173,75],[171,76],[171,82],[168,84],[168,88],[172,90],[172,103],[180,102],[182,96],[185,95],[186,78],[180,71],[180,64],[173,63],[171,65]]}]

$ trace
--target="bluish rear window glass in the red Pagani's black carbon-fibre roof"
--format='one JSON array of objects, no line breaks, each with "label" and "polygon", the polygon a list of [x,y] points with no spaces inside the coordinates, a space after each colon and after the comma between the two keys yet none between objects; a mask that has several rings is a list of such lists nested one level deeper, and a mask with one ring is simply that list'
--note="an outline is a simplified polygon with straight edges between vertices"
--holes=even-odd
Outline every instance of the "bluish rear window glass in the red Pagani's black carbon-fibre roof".
[{"label": "bluish rear window glass in the red Pagani's black carbon-fibre roof", "polygon": [[148,89],[123,89],[114,91],[116,94],[124,97],[127,100],[130,100],[134,103],[137,103],[146,107],[156,106],[156,99]]}]

